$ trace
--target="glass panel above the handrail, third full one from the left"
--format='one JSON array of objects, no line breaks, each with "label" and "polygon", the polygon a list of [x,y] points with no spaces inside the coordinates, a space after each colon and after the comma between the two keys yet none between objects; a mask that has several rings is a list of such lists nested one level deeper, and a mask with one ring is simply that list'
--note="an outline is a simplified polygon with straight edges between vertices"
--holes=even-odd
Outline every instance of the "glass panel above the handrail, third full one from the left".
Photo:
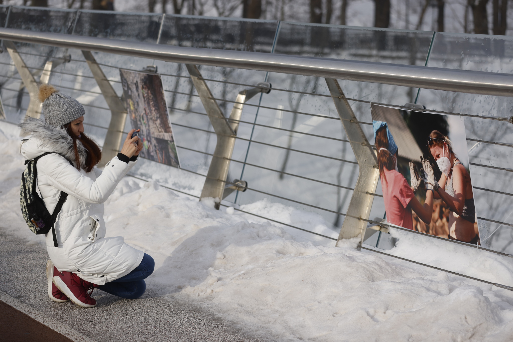
[{"label": "glass panel above the handrail, third full one from the left", "polygon": [[161,44],[271,52],[276,21],[166,15]]}]

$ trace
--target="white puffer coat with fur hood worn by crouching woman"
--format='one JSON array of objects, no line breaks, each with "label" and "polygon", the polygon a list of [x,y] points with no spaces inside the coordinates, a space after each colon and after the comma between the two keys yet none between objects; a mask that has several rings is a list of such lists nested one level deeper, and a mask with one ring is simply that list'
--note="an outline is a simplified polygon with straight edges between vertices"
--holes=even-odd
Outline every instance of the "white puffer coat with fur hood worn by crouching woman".
[{"label": "white puffer coat with fur hood worn by crouching woman", "polygon": [[[30,134],[21,145],[26,159],[57,152],[76,165],[73,140],[64,129],[30,117],[19,126],[22,134]],[[83,166],[86,152],[80,140],[77,149]],[[46,234],[48,255],[59,271],[104,285],[130,273],[143,259],[144,252],[125,244],[123,237],[106,238],[103,219],[103,203],[136,162],[127,164],[114,157],[103,172],[94,168],[86,173],[61,155],[48,154],[37,161],[37,189],[50,213],[61,191],[68,193],[54,226],[58,247],[54,247],[52,232]]]}]

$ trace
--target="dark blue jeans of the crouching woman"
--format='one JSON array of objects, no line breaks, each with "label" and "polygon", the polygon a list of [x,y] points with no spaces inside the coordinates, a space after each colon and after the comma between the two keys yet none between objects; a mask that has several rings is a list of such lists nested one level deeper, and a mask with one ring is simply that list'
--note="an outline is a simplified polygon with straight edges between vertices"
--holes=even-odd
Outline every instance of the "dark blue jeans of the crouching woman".
[{"label": "dark blue jeans of the crouching woman", "polygon": [[137,266],[132,272],[119,279],[112,280],[110,283],[98,286],[98,289],[115,296],[126,299],[137,299],[146,291],[146,279],[155,267],[155,261],[148,254],[144,253],[141,264]]}]

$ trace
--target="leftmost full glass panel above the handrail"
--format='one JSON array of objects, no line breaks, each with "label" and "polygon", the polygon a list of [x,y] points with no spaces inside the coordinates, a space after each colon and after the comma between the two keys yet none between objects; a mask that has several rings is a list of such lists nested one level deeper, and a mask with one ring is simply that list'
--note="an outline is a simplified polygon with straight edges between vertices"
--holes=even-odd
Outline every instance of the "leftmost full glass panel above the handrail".
[{"label": "leftmost full glass panel above the handrail", "polygon": [[76,10],[13,6],[7,27],[39,32],[70,33]]}]

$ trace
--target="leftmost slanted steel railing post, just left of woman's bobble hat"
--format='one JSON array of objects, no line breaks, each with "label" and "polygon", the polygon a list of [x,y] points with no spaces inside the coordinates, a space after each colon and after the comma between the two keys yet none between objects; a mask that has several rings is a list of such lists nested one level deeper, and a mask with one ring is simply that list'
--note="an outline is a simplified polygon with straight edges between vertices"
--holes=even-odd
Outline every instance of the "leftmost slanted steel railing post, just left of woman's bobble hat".
[{"label": "leftmost slanted steel railing post, just left of woman's bobble hat", "polygon": [[7,48],[7,52],[9,52],[9,55],[14,62],[14,66],[16,67],[16,70],[18,70],[18,74],[22,78],[22,82],[29,93],[30,102],[29,108],[27,109],[27,115],[39,118],[41,116],[41,103],[37,99],[37,82],[35,81],[34,76],[30,73],[29,68],[27,68],[22,56],[20,56],[18,50],[16,50],[14,43],[11,41],[4,41],[4,46]]}]

